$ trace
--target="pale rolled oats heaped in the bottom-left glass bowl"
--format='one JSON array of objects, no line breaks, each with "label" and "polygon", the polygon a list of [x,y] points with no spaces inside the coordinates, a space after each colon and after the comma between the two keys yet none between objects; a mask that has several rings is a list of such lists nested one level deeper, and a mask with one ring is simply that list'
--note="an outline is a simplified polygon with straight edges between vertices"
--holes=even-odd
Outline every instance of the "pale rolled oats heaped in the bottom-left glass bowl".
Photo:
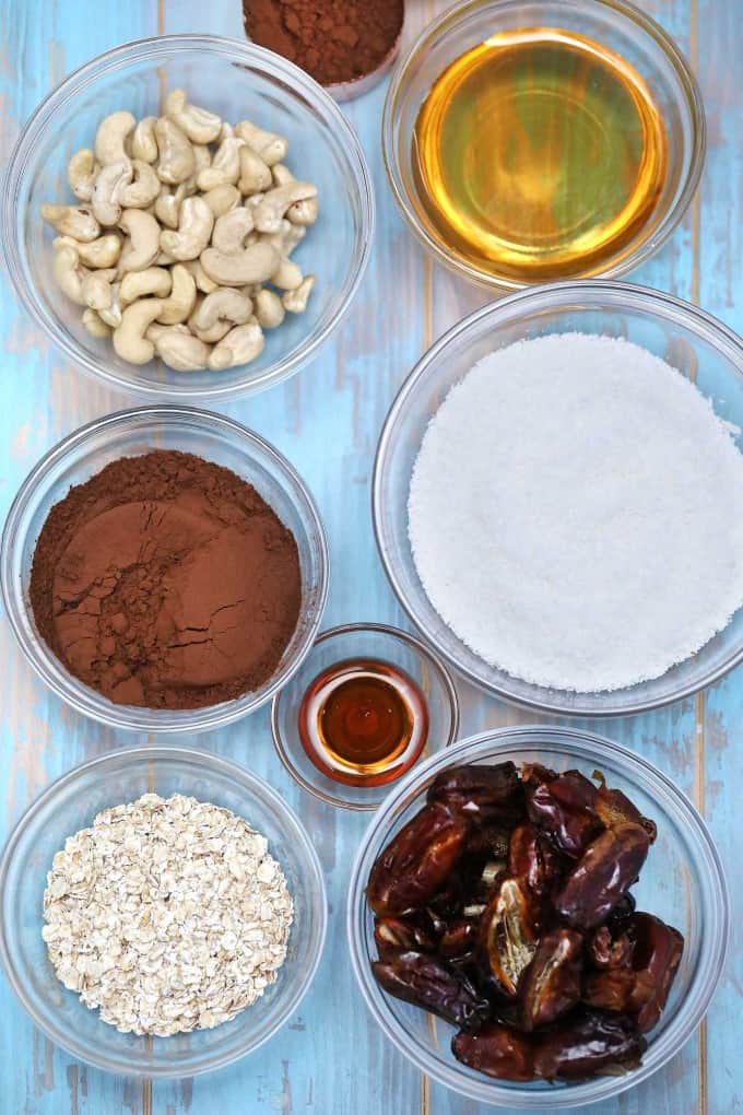
[{"label": "pale rolled oats heaped in the bottom-left glass bowl", "polygon": [[47,876],[57,976],[121,1032],[234,1018],[286,957],[294,908],[267,846],[229,809],[180,794],[104,809]]}]

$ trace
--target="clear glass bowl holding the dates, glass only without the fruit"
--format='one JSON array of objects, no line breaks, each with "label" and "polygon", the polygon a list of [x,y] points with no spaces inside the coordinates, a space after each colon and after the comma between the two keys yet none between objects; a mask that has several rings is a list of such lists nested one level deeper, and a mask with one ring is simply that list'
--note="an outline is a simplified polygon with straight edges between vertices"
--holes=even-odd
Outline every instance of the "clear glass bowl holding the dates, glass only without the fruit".
[{"label": "clear glass bowl holding the dates, glass only without the fruit", "polygon": [[[639,882],[638,909],[676,925],[685,937],[682,962],[661,1021],[647,1035],[639,1068],[579,1084],[509,1084],[476,1073],[450,1051],[452,1027],[387,995],[374,980],[373,918],[365,886],[374,860],[423,804],[442,769],[460,763],[511,759],[557,770],[598,769],[652,817],[658,835]],[[698,1026],[720,980],[730,931],[730,898],[707,827],[688,798],[652,764],[610,739],[570,728],[525,726],[485,731],[417,767],[389,795],[366,830],[351,874],[346,909],[351,962],[366,1006],[390,1040],[422,1073],[469,1099],[518,1111],[563,1111],[607,1101],[647,1079],[671,1059]]]}]

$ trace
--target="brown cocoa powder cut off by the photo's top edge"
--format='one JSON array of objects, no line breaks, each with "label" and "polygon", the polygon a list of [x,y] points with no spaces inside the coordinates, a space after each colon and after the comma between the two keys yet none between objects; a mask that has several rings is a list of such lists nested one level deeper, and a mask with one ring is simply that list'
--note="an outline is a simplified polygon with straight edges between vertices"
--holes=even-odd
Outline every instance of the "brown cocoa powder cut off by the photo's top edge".
[{"label": "brown cocoa powder cut off by the photo's top edge", "polygon": [[245,30],[321,85],[365,77],[402,28],[403,0],[243,0]]}]

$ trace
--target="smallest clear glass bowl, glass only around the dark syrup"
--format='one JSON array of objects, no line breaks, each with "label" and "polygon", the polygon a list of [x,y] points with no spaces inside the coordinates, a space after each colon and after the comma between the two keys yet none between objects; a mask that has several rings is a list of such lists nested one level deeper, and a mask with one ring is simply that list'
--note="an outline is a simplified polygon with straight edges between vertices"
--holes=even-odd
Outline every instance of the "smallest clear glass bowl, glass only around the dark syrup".
[{"label": "smallest clear glass bowl, glass only around the dark syrup", "polygon": [[419,687],[428,708],[428,738],[416,763],[449,747],[459,730],[459,700],[447,667],[414,636],[383,623],[348,623],[330,628],[315,640],[292,680],[274,697],[271,725],[278,757],[300,786],[343,809],[375,809],[399,779],[382,786],[346,786],[324,775],[307,756],[300,738],[302,699],[324,670],[353,658],[375,658],[397,666]]}]

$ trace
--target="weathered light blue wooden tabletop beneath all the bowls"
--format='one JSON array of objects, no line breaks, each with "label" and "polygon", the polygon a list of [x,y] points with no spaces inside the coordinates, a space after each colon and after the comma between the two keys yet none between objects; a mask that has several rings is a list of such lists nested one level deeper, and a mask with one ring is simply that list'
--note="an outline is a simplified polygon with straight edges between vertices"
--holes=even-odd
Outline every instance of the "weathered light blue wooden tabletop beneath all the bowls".
[{"label": "weathered light blue wooden tabletop beneath all the bowls", "polygon": [[[447,4],[409,0],[408,37]],[[683,227],[632,278],[700,301],[743,330],[743,3],[644,0],[692,59],[710,123],[698,197]],[[174,31],[241,35],[237,0],[4,0],[0,3],[2,153],[37,101],[81,62],[127,39]],[[380,426],[397,386],[423,348],[483,301],[426,260],[408,235],[384,180],[380,89],[348,107],[374,175],[379,202],[370,273],[334,345],[289,384],[229,413],[273,440],[315,493],[334,571],[326,623],[401,622],[383,579],[369,518],[369,478]],[[61,436],[123,400],[80,378],[0,288],[3,405],[0,512],[37,457]],[[37,681],[0,624],[6,665],[0,748],[0,840],[51,779],[126,739],[74,716]],[[526,717],[461,686],[462,731]],[[528,717],[534,719],[534,717]],[[733,950],[707,1020],[680,1056],[606,1115],[714,1113],[743,1106],[741,985],[743,836],[736,756],[743,731],[743,670],[695,700],[597,730],[657,763],[706,815],[733,883]],[[372,1027],[352,982],[343,940],[350,863],[362,816],[303,795],[274,757],[267,710],[189,740],[250,764],[299,811],[327,873],[331,921],[325,957],[300,1012],[268,1046],[223,1073],[177,1083],[133,1083],[70,1060],[33,1029],[0,978],[0,1115],[483,1115],[421,1078]]]}]

